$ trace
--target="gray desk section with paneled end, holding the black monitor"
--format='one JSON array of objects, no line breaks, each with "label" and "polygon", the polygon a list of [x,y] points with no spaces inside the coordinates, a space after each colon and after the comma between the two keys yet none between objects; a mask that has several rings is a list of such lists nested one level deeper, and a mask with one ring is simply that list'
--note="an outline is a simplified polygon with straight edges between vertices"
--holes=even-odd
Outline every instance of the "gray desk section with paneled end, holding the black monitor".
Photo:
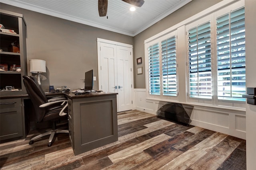
[{"label": "gray desk section with paneled end, holding the black monitor", "polygon": [[74,154],[118,141],[116,93],[64,94]]}]

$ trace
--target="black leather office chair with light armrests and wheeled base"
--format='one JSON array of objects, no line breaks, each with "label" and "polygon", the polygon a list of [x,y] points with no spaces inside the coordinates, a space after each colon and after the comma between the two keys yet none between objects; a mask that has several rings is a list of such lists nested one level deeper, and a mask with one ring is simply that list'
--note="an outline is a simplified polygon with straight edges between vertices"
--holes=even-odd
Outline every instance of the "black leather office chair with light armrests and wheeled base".
[{"label": "black leather office chair with light armrests and wheeled base", "polygon": [[59,121],[60,118],[63,117],[66,117],[66,120],[68,119],[68,100],[64,97],[51,98],[48,100],[42,87],[38,84],[38,81],[34,76],[23,76],[23,78],[26,91],[28,92],[28,96],[35,109],[37,123],[52,121],[52,130],[33,137],[30,139],[29,144],[32,145],[35,139],[50,135],[48,144],[48,147],[50,147],[52,146],[55,133],[68,133],[68,130],[56,129],[56,121]]}]

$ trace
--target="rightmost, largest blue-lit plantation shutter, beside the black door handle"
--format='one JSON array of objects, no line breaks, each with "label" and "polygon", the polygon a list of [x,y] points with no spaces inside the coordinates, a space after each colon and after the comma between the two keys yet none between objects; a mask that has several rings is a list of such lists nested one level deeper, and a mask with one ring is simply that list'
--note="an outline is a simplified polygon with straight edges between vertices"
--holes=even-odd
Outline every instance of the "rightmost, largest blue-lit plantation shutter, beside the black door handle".
[{"label": "rightmost, largest blue-lit plantation shutter, beside the black door handle", "polygon": [[244,8],[217,18],[216,23],[218,99],[245,101]]}]

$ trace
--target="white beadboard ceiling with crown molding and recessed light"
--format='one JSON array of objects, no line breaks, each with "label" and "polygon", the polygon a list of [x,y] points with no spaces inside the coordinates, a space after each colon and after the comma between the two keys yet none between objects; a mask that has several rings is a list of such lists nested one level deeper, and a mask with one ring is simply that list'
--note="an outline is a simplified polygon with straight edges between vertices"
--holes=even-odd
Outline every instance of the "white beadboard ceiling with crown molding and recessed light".
[{"label": "white beadboard ceiling with crown molding and recessed light", "polygon": [[131,12],[130,4],[108,0],[107,17],[98,14],[98,0],[0,0],[4,4],[78,23],[135,36],[191,0],[144,0]]}]

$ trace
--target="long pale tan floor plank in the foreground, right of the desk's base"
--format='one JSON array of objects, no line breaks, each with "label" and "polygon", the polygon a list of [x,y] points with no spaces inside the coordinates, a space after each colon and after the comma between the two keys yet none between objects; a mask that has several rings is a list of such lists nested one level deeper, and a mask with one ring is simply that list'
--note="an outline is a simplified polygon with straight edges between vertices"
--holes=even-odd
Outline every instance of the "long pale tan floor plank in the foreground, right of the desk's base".
[{"label": "long pale tan floor plank in the foreground, right of the desk's base", "polygon": [[119,152],[116,152],[114,154],[109,155],[108,157],[113,163],[119,162],[120,160],[123,160],[129,156],[132,156],[133,154],[136,154],[138,152],[143,151],[144,149],[147,149],[153,145],[156,145],[157,143],[160,143],[166,139],[170,138],[170,136],[162,134],[158,135],[156,137],[153,137],[151,139],[148,139],[142,143],[139,143],[137,145],[134,145],[132,147],[126,148],[124,150],[121,150]]}]

